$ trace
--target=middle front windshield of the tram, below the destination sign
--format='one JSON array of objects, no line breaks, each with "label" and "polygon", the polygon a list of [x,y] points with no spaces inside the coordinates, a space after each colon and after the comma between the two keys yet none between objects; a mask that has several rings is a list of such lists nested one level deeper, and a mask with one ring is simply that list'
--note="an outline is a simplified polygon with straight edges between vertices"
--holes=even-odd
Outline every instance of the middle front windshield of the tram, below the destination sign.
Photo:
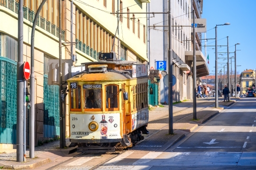
[{"label": "middle front windshield of the tram, below the destination sign", "polygon": [[101,89],[83,89],[84,109],[101,109]]}]

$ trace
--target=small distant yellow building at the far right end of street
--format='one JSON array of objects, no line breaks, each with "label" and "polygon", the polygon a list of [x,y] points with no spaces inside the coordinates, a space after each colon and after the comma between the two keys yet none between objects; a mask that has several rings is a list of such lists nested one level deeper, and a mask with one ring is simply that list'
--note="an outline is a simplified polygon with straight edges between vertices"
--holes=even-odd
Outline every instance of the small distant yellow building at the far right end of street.
[{"label": "small distant yellow building at the far right end of street", "polygon": [[240,88],[241,88],[241,94],[245,94],[247,92],[248,88],[255,88],[255,70],[252,69],[246,69],[244,70],[240,75]]}]

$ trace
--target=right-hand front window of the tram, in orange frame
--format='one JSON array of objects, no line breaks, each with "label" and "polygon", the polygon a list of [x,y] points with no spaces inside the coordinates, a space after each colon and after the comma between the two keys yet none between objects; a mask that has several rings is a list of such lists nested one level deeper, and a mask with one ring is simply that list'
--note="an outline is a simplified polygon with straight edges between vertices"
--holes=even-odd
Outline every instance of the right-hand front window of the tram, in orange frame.
[{"label": "right-hand front window of the tram, in orange frame", "polygon": [[106,102],[108,103],[107,109],[118,108],[118,86],[107,85],[106,86]]}]

